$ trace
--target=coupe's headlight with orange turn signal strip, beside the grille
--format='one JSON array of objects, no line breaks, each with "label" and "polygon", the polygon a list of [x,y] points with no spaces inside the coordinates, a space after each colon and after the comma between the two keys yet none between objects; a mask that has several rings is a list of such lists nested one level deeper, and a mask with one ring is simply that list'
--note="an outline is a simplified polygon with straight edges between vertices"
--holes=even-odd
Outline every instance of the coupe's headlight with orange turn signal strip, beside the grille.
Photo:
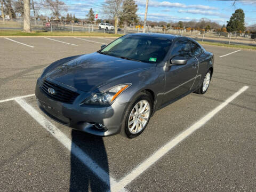
[{"label": "coupe's headlight with orange turn signal strip, beside the grille", "polygon": [[97,105],[110,105],[115,101],[119,94],[126,90],[131,84],[123,84],[111,87],[107,91],[95,93],[91,97],[85,99],[80,105],[83,104],[97,104]]}]

